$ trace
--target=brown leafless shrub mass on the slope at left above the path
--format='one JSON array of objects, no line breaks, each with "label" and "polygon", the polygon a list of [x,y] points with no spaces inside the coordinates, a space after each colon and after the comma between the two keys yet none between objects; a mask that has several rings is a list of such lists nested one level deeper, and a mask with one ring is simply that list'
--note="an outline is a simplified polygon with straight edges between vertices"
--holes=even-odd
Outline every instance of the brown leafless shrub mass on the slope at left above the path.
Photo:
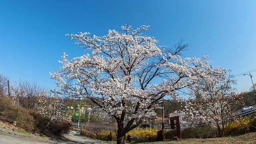
[{"label": "brown leafless shrub mass on the slope at left above the path", "polygon": [[47,118],[32,109],[13,105],[4,97],[0,97],[0,118],[10,124],[16,121],[17,127],[27,132],[39,132],[51,137],[59,137],[62,133],[67,133],[71,127],[71,124],[65,120],[50,120],[47,126]]}]

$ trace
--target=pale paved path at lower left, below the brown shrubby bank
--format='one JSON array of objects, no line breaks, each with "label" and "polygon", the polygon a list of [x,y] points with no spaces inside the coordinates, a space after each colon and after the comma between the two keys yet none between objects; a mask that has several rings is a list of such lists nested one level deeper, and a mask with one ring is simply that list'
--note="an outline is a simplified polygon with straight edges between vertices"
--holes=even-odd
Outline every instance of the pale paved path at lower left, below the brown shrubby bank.
[{"label": "pale paved path at lower left, below the brown shrubby bank", "polygon": [[0,144],[105,144],[99,140],[84,138],[71,133],[64,136],[69,140],[49,140],[0,132]]}]

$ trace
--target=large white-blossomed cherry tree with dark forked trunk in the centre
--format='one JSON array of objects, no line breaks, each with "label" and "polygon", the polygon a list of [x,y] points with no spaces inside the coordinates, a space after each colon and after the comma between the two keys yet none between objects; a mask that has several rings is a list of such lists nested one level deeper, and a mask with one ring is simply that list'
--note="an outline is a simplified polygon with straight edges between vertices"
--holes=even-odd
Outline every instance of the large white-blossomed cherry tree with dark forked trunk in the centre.
[{"label": "large white-blossomed cherry tree with dark forked trunk in the centre", "polygon": [[210,66],[207,56],[182,59],[180,53],[188,46],[182,41],[171,48],[158,46],[154,37],[142,36],[150,26],[121,28],[123,33],[108,30],[105,36],[67,34],[86,54],[68,60],[64,53],[59,61],[63,66],[50,73],[60,94],[90,98],[116,119],[118,144],[125,143],[126,133],[164,96],[175,98],[177,90],[223,71]]}]

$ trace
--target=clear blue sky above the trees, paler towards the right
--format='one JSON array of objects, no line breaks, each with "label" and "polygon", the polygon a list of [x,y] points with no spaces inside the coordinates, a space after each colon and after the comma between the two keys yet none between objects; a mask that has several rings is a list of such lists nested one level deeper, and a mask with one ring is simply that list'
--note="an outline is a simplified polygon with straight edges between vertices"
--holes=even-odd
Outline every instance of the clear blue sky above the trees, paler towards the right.
[{"label": "clear blue sky above the trees, paler towards the right", "polygon": [[[185,57],[209,55],[235,75],[253,71],[256,82],[256,0],[0,0],[0,74],[56,88],[48,72],[63,52],[83,54],[65,34],[103,36],[126,23],[150,25],[144,34],[160,45],[183,38]],[[249,76],[236,79],[237,92],[252,86]]]}]

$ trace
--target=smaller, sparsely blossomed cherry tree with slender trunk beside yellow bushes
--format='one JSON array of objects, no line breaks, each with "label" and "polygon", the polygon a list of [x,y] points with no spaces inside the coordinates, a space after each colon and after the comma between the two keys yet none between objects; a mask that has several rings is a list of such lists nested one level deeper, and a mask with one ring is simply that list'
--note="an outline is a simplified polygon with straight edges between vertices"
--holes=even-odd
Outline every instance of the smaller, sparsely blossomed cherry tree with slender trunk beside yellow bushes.
[{"label": "smaller, sparsely blossomed cherry tree with slender trunk beside yellow bushes", "polygon": [[230,107],[242,99],[232,88],[232,84],[236,84],[234,77],[230,72],[224,74],[213,74],[213,81],[202,78],[196,88],[190,89],[191,95],[184,107],[184,118],[190,125],[214,122],[219,137],[222,137],[224,124],[231,116]]}]

